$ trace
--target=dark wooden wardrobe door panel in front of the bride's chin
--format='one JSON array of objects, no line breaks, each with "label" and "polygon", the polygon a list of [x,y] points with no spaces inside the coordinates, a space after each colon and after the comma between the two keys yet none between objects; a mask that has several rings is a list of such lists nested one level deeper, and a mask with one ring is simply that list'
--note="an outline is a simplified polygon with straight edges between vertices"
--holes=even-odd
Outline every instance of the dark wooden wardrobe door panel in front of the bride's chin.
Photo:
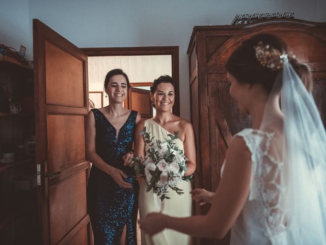
[{"label": "dark wooden wardrobe door panel in front of the bride's chin", "polygon": [[[225,159],[225,153],[232,135],[244,128],[251,128],[250,117],[240,113],[236,102],[232,99],[226,74],[209,74],[208,85],[208,125],[211,145],[211,188],[215,190],[221,179],[221,168]],[[216,145],[218,142],[218,145]]]}]

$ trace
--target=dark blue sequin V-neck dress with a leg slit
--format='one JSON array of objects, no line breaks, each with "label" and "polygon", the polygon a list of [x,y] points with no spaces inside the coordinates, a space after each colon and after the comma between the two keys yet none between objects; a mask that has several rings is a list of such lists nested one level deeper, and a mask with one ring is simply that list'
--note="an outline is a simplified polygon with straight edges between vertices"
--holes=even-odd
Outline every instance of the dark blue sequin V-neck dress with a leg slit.
[{"label": "dark blue sequin V-neck dress with a leg slit", "polygon": [[94,233],[94,245],[119,244],[126,225],[126,244],[137,244],[136,222],[139,184],[133,168],[123,165],[122,157],[132,150],[137,111],[131,111],[116,138],[116,129],[98,109],[92,109],[96,128],[96,154],[104,162],[127,175],[132,188],[120,187],[110,175],[92,165],[87,207]]}]

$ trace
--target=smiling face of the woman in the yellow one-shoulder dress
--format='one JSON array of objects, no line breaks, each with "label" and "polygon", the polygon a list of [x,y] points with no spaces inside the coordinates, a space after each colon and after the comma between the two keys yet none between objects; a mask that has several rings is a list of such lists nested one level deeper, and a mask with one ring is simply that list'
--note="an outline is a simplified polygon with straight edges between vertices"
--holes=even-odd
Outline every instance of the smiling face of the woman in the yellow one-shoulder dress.
[{"label": "smiling face of the woman in the yellow one-shoulder dress", "polygon": [[156,111],[171,111],[175,100],[175,91],[171,83],[160,83],[151,93],[151,100],[155,104]]}]

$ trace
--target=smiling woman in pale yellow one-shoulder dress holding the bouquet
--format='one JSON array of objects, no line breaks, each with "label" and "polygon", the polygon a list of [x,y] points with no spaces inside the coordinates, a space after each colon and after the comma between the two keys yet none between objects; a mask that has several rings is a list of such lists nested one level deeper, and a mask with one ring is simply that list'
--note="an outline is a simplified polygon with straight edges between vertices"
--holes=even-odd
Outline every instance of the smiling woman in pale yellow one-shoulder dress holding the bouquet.
[{"label": "smiling woman in pale yellow one-shoulder dress holding the bouquet", "polygon": [[[184,151],[187,171],[186,176],[192,175],[196,169],[196,148],[195,137],[192,124],[182,119],[171,112],[175,101],[175,85],[174,80],[170,76],[161,76],[154,80],[151,86],[151,101],[153,107],[156,109],[156,115],[146,121],[137,125],[135,130],[135,155],[145,156],[150,146],[144,141],[141,132],[146,127],[146,132],[150,133],[151,137],[156,140],[165,141],[169,139],[168,134],[174,135],[178,131],[179,138],[174,142],[180,150]],[[162,211],[164,214],[177,217],[187,217],[191,215],[192,198],[189,194],[191,191],[191,183],[181,181],[178,185],[184,194],[179,195],[175,191],[168,189],[169,197],[171,199],[165,200],[165,207]],[[153,189],[146,191],[147,184],[142,181],[139,192],[139,212],[140,219],[145,218],[151,212],[158,212],[159,210],[154,204]],[[158,197],[158,206],[161,201]],[[142,245],[187,245],[190,242],[188,235],[166,229],[155,236],[150,237],[142,233]]]}]

